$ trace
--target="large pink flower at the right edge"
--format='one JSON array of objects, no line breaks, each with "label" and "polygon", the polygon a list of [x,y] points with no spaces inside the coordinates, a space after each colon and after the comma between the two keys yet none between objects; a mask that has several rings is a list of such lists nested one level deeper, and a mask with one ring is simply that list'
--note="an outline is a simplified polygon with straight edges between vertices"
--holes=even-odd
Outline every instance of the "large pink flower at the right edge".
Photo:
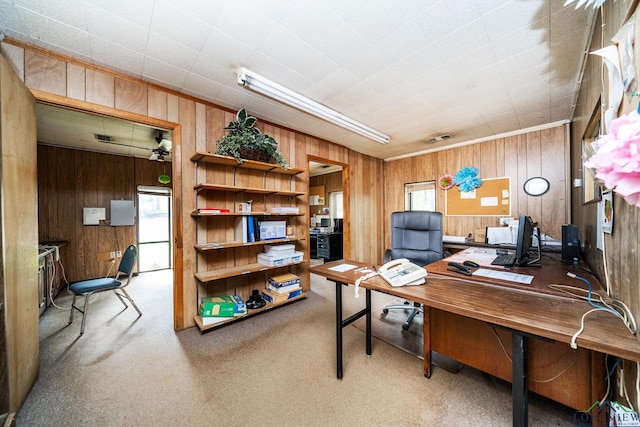
[{"label": "large pink flower at the right edge", "polygon": [[585,162],[596,177],[630,205],[640,207],[640,115],[633,111],[611,122],[611,132],[600,137],[598,151]]}]

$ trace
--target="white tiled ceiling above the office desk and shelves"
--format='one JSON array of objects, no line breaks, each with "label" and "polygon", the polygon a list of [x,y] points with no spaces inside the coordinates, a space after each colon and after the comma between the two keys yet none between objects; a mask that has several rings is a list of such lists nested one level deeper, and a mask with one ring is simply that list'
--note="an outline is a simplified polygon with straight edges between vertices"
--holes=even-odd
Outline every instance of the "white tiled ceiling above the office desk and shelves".
[{"label": "white tiled ceiling above the office desk and shelves", "polygon": [[[388,159],[571,120],[595,12],[563,4],[0,0],[0,29]],[[239,67],[386,133],[391,143],[243,89]],[[425,142],[441,134],[453,137]]]}]

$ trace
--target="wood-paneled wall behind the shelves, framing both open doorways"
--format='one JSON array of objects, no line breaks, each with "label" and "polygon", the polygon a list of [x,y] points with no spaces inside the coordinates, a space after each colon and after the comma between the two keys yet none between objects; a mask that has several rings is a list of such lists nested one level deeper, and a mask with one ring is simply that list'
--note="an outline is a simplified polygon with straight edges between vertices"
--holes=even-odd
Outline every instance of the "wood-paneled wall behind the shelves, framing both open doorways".
[{"label": "wood-paneled wall behind the shelves, framing both open doorways", "polygon": [[[41,102],[119,117],[140,123],[173,128],[172,180],[174,195],[174,326],[194,325],[197,313],[195,206],[190,161],[196,151],[215,151],[215,142],[224,135],[224,126],[235,111],[209,104],[143,81],[106,71],[62,55],[5,39],[2,54]],[[237,106],[241,108],[242,106]],[[383,249],[382,161],[343,146],[301,132],[260,121],[258,127],[272,135],[292,167],[307,169],[309,157],[348,165],[343,183],[345,215],[345,256],[364,262],[381,260]],[[297,185],[308,188],[308,173],[297,177]],[[303,203],[308,212],[308,200]],[[307,214],[308,215],[308,214]],[[306,218],[307,223],[309,218]],[[307,235],[308,238],[308,235]],[[308,249],[306,258],[309,258]],[[301,273],[308,282],[305,266]]]}]

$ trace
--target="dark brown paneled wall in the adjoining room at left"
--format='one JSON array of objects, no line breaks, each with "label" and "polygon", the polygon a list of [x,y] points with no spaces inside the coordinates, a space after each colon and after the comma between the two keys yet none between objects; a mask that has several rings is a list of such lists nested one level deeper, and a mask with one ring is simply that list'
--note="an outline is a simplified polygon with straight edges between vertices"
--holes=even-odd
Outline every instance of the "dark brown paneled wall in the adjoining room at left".
[{"label": "dark brown paneled wall in the adjoining room at left", "polygon": [[146,159],[38,145],[38,239],[68,241],[65,275],[70,282],[104,277],[113,268],[105,253],[137,242],[136,227],[83,225],[85,207],[105,208],[111,200],[133,200],[138,185],[165,185],[171,165]]}]

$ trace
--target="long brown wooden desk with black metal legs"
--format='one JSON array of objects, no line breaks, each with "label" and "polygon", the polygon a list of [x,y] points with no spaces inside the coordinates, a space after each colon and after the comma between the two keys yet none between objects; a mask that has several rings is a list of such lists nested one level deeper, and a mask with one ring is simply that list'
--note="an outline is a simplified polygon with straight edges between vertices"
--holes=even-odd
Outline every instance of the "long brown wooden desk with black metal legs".
[{"label": "long brown wooden desk with black metal legs", "polygon": [[[476,280],[475,277],[449,277],[446,272],[446,262],[431,264],[427,269],[431,271],[427,277],[427,283],[422,286],[405,286],[394,288],[380,277],[373,277],[362,282],[361,287],[366,289],[366,308],[354,314],[347,320],[342,320],[341,292],[342,287],[354,284],[362,273],[356,273],[355,268],[346,272],[331,270],[341,263],[348,263],[357,267],[367,265],[354,261],[335,261],[311,268],[311,272],[324,276],[336,283],[336,335],[337,335],[337,374],[342,377],[342,328],[350,324],[356,318],[367,316],[366,339],[367,354],[371,354],[371,300],[370,291],[384,292],[400,298],[406,298],[418,302],[425,307],[424,320],[424,374],[428,378],[431,375],[431,350],[449,355],[449,350],[457,352],[453,358],[462,363],[470,364],[479,370],[490,374],[498,373],[498,377],[511,381],[513,385],[513,423],[514,425],[527,425],[527,362],[528,355],[532,352],[536,357],[549,355],[549,349],[544,346],[555,346],[557,351],[568,354],[569,358],[576,359],[576,368],[583,372],[583,376],[591,384],[587,392],[587,404],[575,409],[587,409],[591,403],[600,399],[604,394],[604,354],[620,357],[631,361],[640,361],[640,342],[632,335],[620,319],[605,312],[595,312],[587,316],[585,329],[577,338],[577,350],[569,347],[572,336],[580,329],[581,318],[592,307],[585,301],[553,295],[552,293],[535,292],[522,289],[519,286],[504,286],[504,284],[491,283],[489,281]],[[369,266],[371,267],[371,266]],[[557,264],[560,274],[554,277],[564,280],[566,275],[562,271],[562,265]],[[538,276],[551,274],[548,267],[536,269]],[[455,274],[455,273],[451,273]],[[535,273],[534,273],[535,275]],[[549,276],[551,277],[551,276]],[[540,279],[542,280],[542,279]],[[573,280],[573,279],[571,279]],[[578,281],[575,281],[578,282]],[[569,282],[572,285],[579,283]],[[452,319],[455,321],[452,322]],[[484,328],[478,337],[478,328]],[[486,334],[493,334],[494,327],[504,328],[495,332],[496,335],[507,336],[511,334],[511,348],[513,359],[511,374],[504,373],[504,363],[499,363],[491,352],[481,349],[481,356],[468,363],[464,353],[473,354],[474,345],[484,345],[488,338]],[[463,334],[465,329],[467,333]],[[506,334],[506,335],[505,335]],[[539,338],[529,340],[529,338]],[[495,337],[493,338],[494,341]],[[551,343],[553,341],[554,343]],[[496,341],[497,342],[497,341]],[[457,344],[457,345],[456,345]],[[536,348],[532,347],[538,347]],[[542,346],[542,347],[541,347]],[[460,353],[460,348],[464,353]],[[475,366],[474,366],[475,365]],[[569,384],[575,387],[576,378],[567,375]],[[574,395],[575,390],[563,386],[548,385],[548,390],[535,390],[542,395],[552,392],[564,392]],[[558,390],[556,390],[558,389]],[[551,391],[549,391],[551,390]],[[562,402],[562,400],[559,400]],[[563,402],[564,403],[564,402]]]}]

